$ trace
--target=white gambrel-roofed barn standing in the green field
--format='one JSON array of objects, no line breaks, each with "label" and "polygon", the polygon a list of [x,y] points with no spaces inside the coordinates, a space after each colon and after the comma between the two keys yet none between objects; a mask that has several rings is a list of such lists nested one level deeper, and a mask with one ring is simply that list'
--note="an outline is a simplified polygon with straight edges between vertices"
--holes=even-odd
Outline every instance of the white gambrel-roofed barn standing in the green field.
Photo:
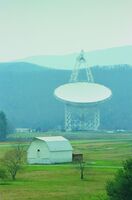
[{"label": "white gambrel-roofed barn standing in the green field", "polygon": [[52,164],[72,161],[72,146],[62,136],[36,137],[27,151],[29,164]]}]

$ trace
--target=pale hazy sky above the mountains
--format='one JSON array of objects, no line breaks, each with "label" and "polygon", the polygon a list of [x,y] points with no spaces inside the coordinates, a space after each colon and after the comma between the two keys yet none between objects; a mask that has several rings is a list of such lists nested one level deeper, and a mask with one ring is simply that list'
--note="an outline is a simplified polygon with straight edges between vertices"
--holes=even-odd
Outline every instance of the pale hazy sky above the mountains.
[{"label": "pale hazy sky above the mountains", "polygon": [[0,61],[132,44],[132,0],[0,0]]}]

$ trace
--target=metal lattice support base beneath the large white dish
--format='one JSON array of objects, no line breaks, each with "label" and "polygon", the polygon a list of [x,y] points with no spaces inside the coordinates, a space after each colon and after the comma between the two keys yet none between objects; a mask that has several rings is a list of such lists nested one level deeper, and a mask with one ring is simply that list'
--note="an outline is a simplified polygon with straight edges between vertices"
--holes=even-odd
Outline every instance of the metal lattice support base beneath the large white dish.
[{"label": "metal lattice support base beneath the large white dish", "polygon": [[65,131],[97,130],[100,112],[97,106],[65,105]]}]

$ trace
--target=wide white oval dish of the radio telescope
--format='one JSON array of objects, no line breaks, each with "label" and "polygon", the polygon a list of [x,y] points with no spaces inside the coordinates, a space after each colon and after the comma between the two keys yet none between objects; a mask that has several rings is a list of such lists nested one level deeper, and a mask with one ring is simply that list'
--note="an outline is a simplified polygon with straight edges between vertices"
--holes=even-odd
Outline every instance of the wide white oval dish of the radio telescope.
[{"label": "wide white oval dish of the radio telescope", "polygon": [[107,100],[112,92],[109,88],[97,83],[75,82],[59,86],[54,94],[65,103],[94,104]]}]

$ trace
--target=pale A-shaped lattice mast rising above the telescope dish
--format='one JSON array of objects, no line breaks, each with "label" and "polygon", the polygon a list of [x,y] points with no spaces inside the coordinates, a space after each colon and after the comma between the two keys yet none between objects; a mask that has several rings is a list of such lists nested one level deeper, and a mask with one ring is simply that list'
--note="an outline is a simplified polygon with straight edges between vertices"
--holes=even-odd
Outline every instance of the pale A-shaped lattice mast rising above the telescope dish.
[{"label": "pale A-shaped lattice mast rising above the telescope dish", "polygon": [[74,69],[72,71],[71,77],[70,77],[70,83],[74,83],[74,82],[78,82],[78,74],[79,71],[81,69],[81,66],[83,66],[83,68],[85,68],[86,70],[86,76],[87,76],[87,81],[89,83],[93,83],[94,82],[94,78],[92,75],[92,72],[90,70],[90,67],[88,66],[86,59],[84,57],[84,51],[82,50],[80,55],[76,58],[76,63],[74,66]]}]

